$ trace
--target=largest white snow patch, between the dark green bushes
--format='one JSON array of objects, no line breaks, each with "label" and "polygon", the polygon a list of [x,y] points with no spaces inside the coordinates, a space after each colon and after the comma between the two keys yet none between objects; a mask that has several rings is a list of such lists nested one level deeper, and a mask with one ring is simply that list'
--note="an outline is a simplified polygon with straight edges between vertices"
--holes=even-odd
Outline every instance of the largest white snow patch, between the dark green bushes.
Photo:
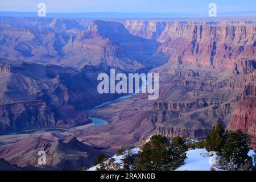
[{"label": "largest white snow patch, between the dark green bushes", "polygon": [[189,150],[185,164],[176,169],[176,171],[210,171],[210,164],[207,150],[205,148]]}]

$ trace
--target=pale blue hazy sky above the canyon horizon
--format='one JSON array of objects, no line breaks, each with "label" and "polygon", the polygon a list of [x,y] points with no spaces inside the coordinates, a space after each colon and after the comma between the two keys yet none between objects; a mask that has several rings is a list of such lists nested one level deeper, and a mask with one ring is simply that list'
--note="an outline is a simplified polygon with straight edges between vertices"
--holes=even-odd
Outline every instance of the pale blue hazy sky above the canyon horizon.
[{"label": "pale blue hazy sky above the canyon horizon", "polygon": [[256,11],[255,0],[0,0],[0,11],[38,11],[46,4],[48,13],[186,13],[207,14],[209,3],[218,13]]}]

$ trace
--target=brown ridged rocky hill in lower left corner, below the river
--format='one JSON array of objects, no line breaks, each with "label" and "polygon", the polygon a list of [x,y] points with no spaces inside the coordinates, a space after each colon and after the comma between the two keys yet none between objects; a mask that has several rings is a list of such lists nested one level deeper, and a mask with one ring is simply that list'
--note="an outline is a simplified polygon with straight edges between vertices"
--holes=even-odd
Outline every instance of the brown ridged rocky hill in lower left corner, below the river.
[{"label": "brown ridged rocky hill in lower left corner, below the river", "polygon": [[[39,151],[46,152],[46,165],[38,164]],[[96,148],[73,137],[56,142],[31,137],[0,147],[0,157],[11,164],[18,167],[34,166],[44,170],[77,171],[82,167],[89,168],[99,154],[100,151]]]}]

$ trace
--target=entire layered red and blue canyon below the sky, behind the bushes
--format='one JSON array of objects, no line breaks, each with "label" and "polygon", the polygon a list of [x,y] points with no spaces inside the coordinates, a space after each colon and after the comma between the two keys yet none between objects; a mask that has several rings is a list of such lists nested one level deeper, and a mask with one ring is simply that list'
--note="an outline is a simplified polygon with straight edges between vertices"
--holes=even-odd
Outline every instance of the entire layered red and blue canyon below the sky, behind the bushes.
[{"label": "entire layered red and blue canyon below the sky, behind the bushes", "polygon": [[[7,143],[0,158],[10,164],[36,166],[32,155],[45,147],[52,159],[47,169],[76,170],[90,167],[99,152],[113,155],[152,134],[203,139],[219,122],[250,134],[256,147],[255,20],[1,16],[0,32],[0,134],[70,129],[0,136]],[[97,76],[111,69],[159,73],[158,100],[99,94]],[[108,125],[80,129],[92,124],[90,117]],[[26,155],[25,143],[39,148]],[[75,166],[67,168],[71,162],[59,151],[76,154]]]}]

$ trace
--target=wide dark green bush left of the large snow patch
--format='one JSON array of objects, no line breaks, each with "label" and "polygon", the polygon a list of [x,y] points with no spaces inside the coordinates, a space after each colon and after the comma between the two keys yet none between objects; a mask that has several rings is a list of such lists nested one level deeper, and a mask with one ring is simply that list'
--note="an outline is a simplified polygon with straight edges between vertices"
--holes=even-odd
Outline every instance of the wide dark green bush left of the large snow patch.
[{"label": "wide dark green bush left of the large snow patch", "polygon": [[168,138],[161,135],[152,136],[138,155],[135,169],[139,171],[174,170],[186,158],[183,147],[174,147]]}]

